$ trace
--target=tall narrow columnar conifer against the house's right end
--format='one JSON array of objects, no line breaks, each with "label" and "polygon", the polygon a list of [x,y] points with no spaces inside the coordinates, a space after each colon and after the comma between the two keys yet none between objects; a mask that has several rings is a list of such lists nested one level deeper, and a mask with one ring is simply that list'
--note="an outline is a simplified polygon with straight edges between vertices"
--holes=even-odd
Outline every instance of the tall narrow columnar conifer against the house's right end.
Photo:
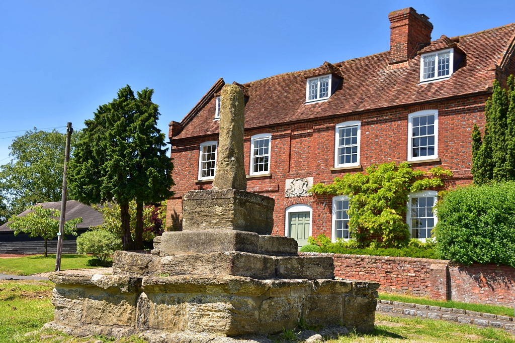
[{"label": "tall narrow columnar conifer against the house's right end", "polygon": [[508,89],[493,83],[492,97],[485,104],[483,138],[472,130],[472,175],[476,185],[515,180],[515,94],[513,76]]}]

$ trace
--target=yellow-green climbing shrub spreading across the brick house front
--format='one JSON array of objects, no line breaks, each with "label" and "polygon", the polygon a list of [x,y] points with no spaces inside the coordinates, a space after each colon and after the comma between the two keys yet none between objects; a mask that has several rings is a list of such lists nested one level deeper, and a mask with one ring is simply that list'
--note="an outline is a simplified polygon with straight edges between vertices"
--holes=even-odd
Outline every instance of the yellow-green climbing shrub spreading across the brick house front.
[{"label": "yellow-green climbing shrub spreading across the brick house front", "polygon": [[348,195],[351,237],[368,246],[373,237],[382,237],[376,247],[403,247],[409,243],[405,221],[409,192],[443,186],[440,176],[452,176],[450,170],[436,167],[425,172],[408,163],[372,165],[364,173],[336,177],[330,185],[314,185],[314,194]]}]

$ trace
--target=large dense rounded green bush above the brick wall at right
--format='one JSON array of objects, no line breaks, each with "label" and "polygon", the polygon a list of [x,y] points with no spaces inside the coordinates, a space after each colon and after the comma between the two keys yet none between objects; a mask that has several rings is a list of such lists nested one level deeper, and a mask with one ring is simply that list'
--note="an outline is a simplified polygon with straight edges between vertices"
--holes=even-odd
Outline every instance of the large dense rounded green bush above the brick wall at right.
[{"label": "large dense rounded green bush above the brick wall at right", "polygon": [[515,182],[450,191],[436,213],[441,258],[515,267]]}]

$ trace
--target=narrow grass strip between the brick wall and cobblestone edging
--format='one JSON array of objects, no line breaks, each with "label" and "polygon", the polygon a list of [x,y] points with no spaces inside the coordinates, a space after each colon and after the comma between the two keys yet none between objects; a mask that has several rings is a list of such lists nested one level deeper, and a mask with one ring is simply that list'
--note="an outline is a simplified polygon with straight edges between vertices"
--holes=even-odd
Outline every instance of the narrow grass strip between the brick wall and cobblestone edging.
[{"label": "narrow grass strip between the brick wall and cobblestone edging", "polygon": [[471,304],[471,303],[467,303],[467,302],[458,302],[458,301],[433,300],[433,299],[428,299],[428,298],[410,297],[410,296],[406,296],[406,295],[395,295],[395,294],[386,294],[386,293],[380,293],[379,299],[380,300],[402,301],[402,302],[414,302],[414,303],[421,304],[421,305],[441,306],[444,308],[454,308],[454,309],[461,309],[461,310],[500,314],[502,316],[513,317],[513,308],[499,306],[499,305]]}]

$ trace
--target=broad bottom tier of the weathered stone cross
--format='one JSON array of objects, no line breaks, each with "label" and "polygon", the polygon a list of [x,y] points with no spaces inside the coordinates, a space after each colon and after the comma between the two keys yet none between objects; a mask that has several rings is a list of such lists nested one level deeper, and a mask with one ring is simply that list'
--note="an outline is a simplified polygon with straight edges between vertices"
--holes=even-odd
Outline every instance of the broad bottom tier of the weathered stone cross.
[{"label": "broad bottom tier of the weathered stone cross", "polygon": [[349,280],[256,280],[232,275],[144,276],[52,273],[55,328],[72,334],[142,332],[266,335],[339,324],[374,328],[379,283]]}]

